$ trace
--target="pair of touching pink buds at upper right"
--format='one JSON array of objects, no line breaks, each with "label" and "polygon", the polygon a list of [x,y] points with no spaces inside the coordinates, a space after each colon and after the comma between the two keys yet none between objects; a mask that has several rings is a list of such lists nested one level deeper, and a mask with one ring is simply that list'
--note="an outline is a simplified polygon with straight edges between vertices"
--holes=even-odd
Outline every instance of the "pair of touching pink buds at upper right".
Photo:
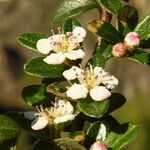
[{"label": "pair of touching pink buds at upper right", "polygon": [[131,53],[140,44],[140,36],[136,32],[129,32],[124,39],[124,43],[117,43],[113,46],[112,55],[114,57],[123,57]]}]

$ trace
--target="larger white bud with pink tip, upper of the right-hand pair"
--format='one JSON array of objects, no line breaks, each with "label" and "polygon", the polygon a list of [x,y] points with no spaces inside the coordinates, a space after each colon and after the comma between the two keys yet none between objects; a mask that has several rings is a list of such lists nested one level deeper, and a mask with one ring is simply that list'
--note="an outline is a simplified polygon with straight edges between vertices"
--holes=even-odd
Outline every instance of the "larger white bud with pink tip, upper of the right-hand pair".
[{"label": "larger white bud with pink tip, upper of the right-hand pair", "polygon": [[136,32],[129,32],[124,39],[124,44],[129,52],[132,52],[132,50],[139,46],[140,36]]}]

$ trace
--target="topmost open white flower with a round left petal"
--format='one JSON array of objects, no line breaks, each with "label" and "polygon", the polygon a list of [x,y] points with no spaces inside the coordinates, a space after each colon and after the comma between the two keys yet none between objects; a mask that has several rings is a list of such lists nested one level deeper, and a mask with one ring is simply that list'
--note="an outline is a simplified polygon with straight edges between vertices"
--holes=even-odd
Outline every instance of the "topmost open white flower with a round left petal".
[{"label": "topmost open white flower with a round left petal", "polygon": [[44,61],[48,64],[61,64],[66,58],[70,60],[82,59],[85,55],[80,48],[80,43],[84,41],[86,31],[82,27],[75,27],[72,32],[52,35],[47,39],[37,41],[37,50],[43,54],[49,54]]}]

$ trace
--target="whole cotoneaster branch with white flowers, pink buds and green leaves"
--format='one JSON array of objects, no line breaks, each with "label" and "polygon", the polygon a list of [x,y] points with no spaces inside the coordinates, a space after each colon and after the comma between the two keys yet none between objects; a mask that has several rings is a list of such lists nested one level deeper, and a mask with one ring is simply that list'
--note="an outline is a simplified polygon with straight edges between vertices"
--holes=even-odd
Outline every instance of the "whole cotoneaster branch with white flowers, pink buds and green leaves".
[{"label": "whole cotoneaster branch with white flowers, pink buds and green leaves", "polygon": [[[136,137],[138,124],[120,124],[110,114],[126,99],[113,92],[122,83],[105,70],[110,58],[150,62],[144,50],[150,48],[150,14],[139,22],[138,11],[127,2],[61,0],[53,18],[56,26],[62,23],[61,29],[52,30],[50,37],[37,33],[18,37],[26,48],[44,54],[24,65],[24,72],[40,77],[41,83],[21,93],[32,111],[0,115],[3,147],[15,150],[21,129],[35,137],[32,150],[119,150]],[[74,17],[94,8],[99,18],[87,20],[83,28]],[[114,15],[116,25],[111,24]],[[98,42],[83,65],[87,29]]]}]

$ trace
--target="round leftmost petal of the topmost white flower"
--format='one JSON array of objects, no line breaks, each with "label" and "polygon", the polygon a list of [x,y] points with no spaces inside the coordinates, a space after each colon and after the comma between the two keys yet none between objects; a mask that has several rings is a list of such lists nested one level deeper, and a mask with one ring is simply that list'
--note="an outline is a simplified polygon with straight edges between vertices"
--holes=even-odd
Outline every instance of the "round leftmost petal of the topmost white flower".
[{"label": "round leftmost petal of the topmost white flower", "polygon": [[37,50],[42,54],[48,54],[50,52],[50,41],[49,39],[40,39],[36,44]]}]

